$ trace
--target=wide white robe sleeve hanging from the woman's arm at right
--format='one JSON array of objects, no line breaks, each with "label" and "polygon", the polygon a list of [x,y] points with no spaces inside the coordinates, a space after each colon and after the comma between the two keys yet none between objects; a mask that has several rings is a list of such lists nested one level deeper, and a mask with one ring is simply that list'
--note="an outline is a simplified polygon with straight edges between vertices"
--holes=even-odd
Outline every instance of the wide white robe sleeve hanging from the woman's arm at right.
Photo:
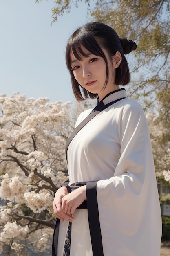
[{"label": "wide white robe sleeve hanging from the woman's arm at right", "polygon": [[160,256],[161,213],[150,132],[138,103],[124,106],[117,130],[120,158],[113,177],[86,184],[87,202],[96,186],[104,255],[111,253],[114,240],[116,256]]}]

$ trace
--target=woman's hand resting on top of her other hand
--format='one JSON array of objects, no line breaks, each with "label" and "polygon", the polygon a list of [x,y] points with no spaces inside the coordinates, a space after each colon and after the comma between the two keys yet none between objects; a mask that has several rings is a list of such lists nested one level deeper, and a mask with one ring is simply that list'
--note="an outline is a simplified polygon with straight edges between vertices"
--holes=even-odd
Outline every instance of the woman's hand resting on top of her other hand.
[{"label": "woman's hand resting on top of her other hand", "polygon": [[75,209],[86,200],[86,186],[81,186],[71,193],[62,197],[62,210],[64,213],[73,216]]}]

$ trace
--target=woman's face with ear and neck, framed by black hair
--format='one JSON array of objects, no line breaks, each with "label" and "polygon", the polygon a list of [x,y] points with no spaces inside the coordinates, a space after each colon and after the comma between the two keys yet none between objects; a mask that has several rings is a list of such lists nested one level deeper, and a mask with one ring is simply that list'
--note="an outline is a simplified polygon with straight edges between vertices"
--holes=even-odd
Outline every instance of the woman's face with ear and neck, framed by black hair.
[{"label": "woman's face with ear and neck, framed by black hair", "polygon": [[[112,59],[109,58],[108,53],[105,49],[102,49],[107,61],[109,69],[108,83],[105,85],[106,81],[106,63],[104,58],[96,56],[88,52],[87,49],[82,47],[83,52],[85,52],[88,57],[82,57],[82,60],[77,60],[71,53],[71,68],[73,69],[73,74],[79,85],[91,93],[97,93],[99,100],[106,96],[109,92],[119,89],[119,86],[115,85],[115,68],[116,68],[116,54]],[[121,54],[120,54],[121,56]]]}]

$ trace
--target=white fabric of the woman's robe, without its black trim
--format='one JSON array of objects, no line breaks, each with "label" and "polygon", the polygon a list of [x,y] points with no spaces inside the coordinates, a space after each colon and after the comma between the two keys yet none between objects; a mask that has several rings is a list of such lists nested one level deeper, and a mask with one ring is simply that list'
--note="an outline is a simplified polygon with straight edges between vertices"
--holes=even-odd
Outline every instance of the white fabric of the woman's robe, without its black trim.
[{"label": "white fabric of the woman's robe, without its black trim", "polygon": [[[124,89],[104,104],[126,97]],[[79,115],[76,126],[91,110]],[[70,184],[97,182],[104,256],[160,256],[161,211],[148,123],[131,99],[109,106],[80,130],[68,147]],[[88,198],[87,198],[88,201]],[[70,256],[93,256],[88,213],[77,209]],[[68,222],[60,221],[58,254],[63,256]]]}]

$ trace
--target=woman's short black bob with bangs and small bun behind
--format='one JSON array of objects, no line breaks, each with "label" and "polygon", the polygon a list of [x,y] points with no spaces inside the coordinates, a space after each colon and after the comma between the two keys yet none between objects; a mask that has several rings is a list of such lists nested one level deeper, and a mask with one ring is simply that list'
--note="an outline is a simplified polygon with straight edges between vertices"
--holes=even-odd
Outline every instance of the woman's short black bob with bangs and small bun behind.
[{"label": "woman's short black bob with bangs and small bun behind", "polygon": [[[88,92],[86,89],[80,87],[79,83],[73,75],[73,70],[71,68],[71,52],[78,60],[82,60],[82,57],[87,57],[82,50],[82,46],[96,56],[104,58],[106,63],[106,81],[104,87],[108,83],[109,69],[107,58],[102,51],[106,49],[110,58],[115,55],[117,51],[121,53],[122,61],[119,67],[116,69],[115,85],[127,85],[130,81],[130,71],[125,54],[128,54],[132,50],[136,49],[137,45],[126,38],[120,39],[114,29],[111,27],[100,23],[91,22],[77,29],[69,38],[66,45],[66,65],[71,75],[71,83],[73,88],[73,93],[77,101],[83,101],[84,99],[94,99],[97,94]],[[84,97],[82,96],[82,92]]]}]

